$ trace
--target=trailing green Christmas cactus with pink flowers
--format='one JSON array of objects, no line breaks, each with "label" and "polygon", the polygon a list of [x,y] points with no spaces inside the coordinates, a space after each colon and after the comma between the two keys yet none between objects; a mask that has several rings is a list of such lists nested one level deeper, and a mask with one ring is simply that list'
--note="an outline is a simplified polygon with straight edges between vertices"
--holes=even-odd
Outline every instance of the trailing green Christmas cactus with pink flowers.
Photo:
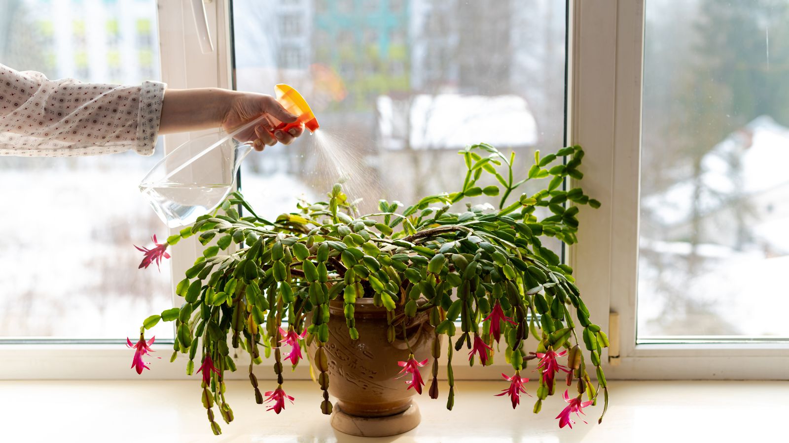
[{"label": "trailing green Christmas cactus with pink flowers", "polygon": [[[320,408],[330,414],[323,349],[329,341],[329,300],[343,300],[347,333],[357,340],[354,302],[372,297],[374,304],[388,311],[389,341],[394,341],[395,329],[406,318],[428,311],[436,334],[429,395],[439,396],[439,358],[446,355],[447,409],[454,404],[453,351],[465,346],[469,365],[476,356],[486,366],[492,363],[493,347],[499,346],[506,348],[505,358],[514,374],[502,374],[510,385],[497,395],[509,396],[513,408],[529,380],[522,374],[527,362],[537,360],[534,370],[540,385],[535,413],[543,400],[559,390],[555,376],[562,372],[567,374],[567,385],[575,383],[578,393],[570,396],[565,389],[568,405],[556,417],[559,426],[572,427],[570,414],[578,415],[582,408],[595,404],[600,392],[604,415],[608,389],[600,355],[608,338],[589,320],[573,270],[540,240],[552,236],[565,244],[576,243],[578,205],[600,206],[581,188],[563,190],[566,177],[581,179],[578,166],[584,152],[579,146],[565,147],[540,158],[537,151],[527,177],[518,181],[514,153],[507,156],[481,143],[460,154],[467,168],[461,190],[429,195],[409,207],[381,200],[380,212],[359,214],[341,184],[335,184],[327,201],[301,201],[297,212],[268,221],[252,210],[241,193],[234,192],[221,206],[223,215],[200,217],[164,244],[156,244],[154,238],[155,248],[140,248],[145,252],[140,267],[166,256],[168,245],[182,238],[198,235],[205,248],[178,283],[176,290],[185,303],[146,318],[140,341],[129,341],[136,348],[133,367],[141,373],[146,367],[141,358],[151,351],[153,339],[145,341],[144,330],[159,320],[175,322],[178,332],[170,361],[178,352],[188,354],[187,374],[193,374],[199,364],[203,405],[211,429],[219,434],[214,405],[226,423],[233,419],[223,377],[226,370],[236,370],[231,346],[249,353],[249,380],[257,403],[271,403],[268,410],[279,414],[286,399],[294,400],[282,388],[283,360],[296,367],[303,358],[301,346],[314,344],[312,363],[320,372],[317,381],[323,390]],[[566,156],[569,161],[563,164]],[[483,174],[495,177],[499,185],[479,186]],[[547,179],[547,188],[514,198],[523,184],[538,179]],[[499,196],[497,204],[466,203],[466,210],[451,211],[463,199],[481,195]],[[237,205],[249,215],[241,217]],[[538,207],[547,207],[551,214],[540,219],[537,213],[543,211],[536,212]],[[533,350],[525,348],[529,333],[537,339]],[[441,350],[442,335],[449,344],[446,352]],[[282,345],[290,347],[284,356]],[[252,370],[262,363],[262,355],[269,358],[271,353],[277,384],[261,393]],[[559,363],[560,358],[565,364]],[[587,362],[595,367],[596,384]],[[424,382],[419,367],[427,360],[417,362],[411,355],[398,364],[412,376],[407,389],[421,393]]]}]

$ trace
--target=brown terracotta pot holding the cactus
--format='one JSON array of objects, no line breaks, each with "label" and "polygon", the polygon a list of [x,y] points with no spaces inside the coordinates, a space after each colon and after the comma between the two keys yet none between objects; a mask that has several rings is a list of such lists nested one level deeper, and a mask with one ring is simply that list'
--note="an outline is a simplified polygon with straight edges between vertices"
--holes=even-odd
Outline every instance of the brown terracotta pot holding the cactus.
[{"label": "brown terracotta pot holding the cactus", "polygon": [[[348,334],[342,300],[329,303],[329,341],[325,348],[328,360],[329,393],[338,401],[331,424],[346,434],[381,437],[401,434],[419,424],[421,419],[405,380],[398,378],[402,369],[398,361],[406,361],[409,345],[421,361],[430,357],[435,339],[428,313],[422,312],[406,322],[408,344],[404,341],[402,324],[395,329],[392,343],[387,341],[387,311],[376,307],[372,299],[359,299],[355,304],[356,329],[359,339]],[[315,345],[310,346],[311,354]],[[430,385],[429,365],[422,369],[422,378]],[[424,393],[428,386],[424,386]]]}]

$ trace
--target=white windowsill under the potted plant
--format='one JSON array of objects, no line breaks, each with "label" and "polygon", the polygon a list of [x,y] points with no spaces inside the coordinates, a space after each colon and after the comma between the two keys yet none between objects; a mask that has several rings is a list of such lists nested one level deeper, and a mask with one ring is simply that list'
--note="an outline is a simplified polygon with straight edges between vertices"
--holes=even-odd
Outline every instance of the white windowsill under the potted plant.
[{"label": "white windowsill under the potted plant", "polygon": [[[263,391],[275,387],[272,381],[260,383]],[[507,397],[493,396],[507,382],[460,381],[454,411],[445,408],[442,384],[439,400],[427,393],[418,398],[417,429],[400,437],[361,438],[331,428],[319,411],[317,385],[286,380],[283,387],[296,402],[275,415],[255,404],[249,382],[228,382],[235,421],[226,424],[217,413],[223,434],[214,437],[197,380],[0,382],[0,441],[768,441],[789,415],[786,382],[612,382],[602,425],[596,424],[600,404],[587,408],[589,424],[576,418],[573,430],[559,430],[559,396],[534,415],[533,398],[513,410]],[[527,390],[533,394],[535,383]]]}]

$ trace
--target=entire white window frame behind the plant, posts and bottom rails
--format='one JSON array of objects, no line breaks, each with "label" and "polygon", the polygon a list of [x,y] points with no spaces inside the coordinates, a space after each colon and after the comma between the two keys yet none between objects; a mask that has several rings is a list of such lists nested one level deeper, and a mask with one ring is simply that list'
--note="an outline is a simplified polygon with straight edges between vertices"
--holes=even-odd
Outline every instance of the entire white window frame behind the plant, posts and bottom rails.
[{"label": "entire white window frame behind the plant, posts and bottom rails", "polygon": [[[158,2],[161,71],[168,87],[233,87],[230,0],[204,5],[215,45],[208,54],[200,50],[189,2]],[[593,318],[610,331],[604,369],[611,379],[785,380],[789,371],[782,368],[789,367],[789,342],[636,344],[644,11],[644,0],[570,0],[567,6],[567,140],[585,148],[581,184],[603,203],[579,214],[581,241],[568,248],[568,257]],[[165,136],[165,152],[203,133]],[[198,251],[193,237],[172,248],[172,285]],[[119,344],[55,342],[0,344],[0,358],[6,362],[0,379],[140,378],[124,366],[129,350]],[[166,344],[172,341],[157,343],[163,344],[163,359],[142,377],[186,378],[182,359],[166,362]],[[734,357],[755,358],[758,364],[733,365]],[[495,378],[496,370],[507,365],[503,356],[494,361],[495,367],[484,371],[458,366],[456,376]],[[261,371],[260,377],[269,376]],[[307,368],[299,367],[292,377],[308,378]]]}]

